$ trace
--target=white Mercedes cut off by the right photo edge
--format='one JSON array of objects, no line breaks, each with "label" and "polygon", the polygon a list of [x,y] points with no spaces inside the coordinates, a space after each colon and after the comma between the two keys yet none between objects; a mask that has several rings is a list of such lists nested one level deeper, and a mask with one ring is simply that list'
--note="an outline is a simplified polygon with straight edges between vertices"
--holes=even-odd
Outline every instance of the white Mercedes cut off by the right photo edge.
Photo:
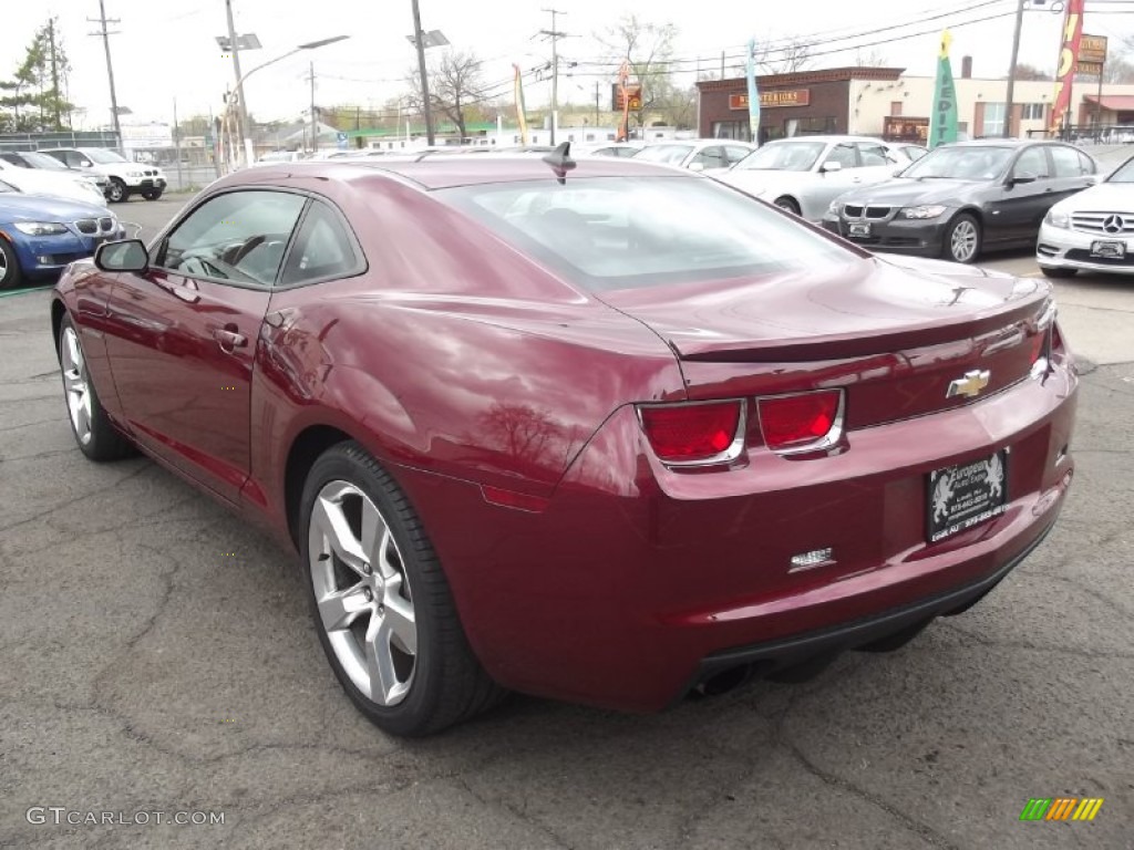
[{"label": "white Mercedes cut off by the right photo edge", "polygon": [[1049,278],[1069,278],[1080,269],[1134,274],[1134,158],[1048,210],[1035,262]]}]

